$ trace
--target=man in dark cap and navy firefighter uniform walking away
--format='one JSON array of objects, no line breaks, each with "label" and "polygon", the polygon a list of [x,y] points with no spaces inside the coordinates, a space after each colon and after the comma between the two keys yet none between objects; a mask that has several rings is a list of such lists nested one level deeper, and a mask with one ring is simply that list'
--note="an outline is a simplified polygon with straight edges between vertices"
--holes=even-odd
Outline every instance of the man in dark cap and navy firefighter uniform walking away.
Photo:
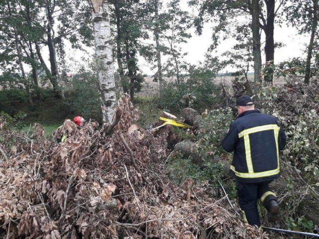
[{"label": "man in dark cap and navy firefighter uniform walking away", "polygon": [[249,96],[239,97],[236,105],[239,115],[230,124],[222,147],[234,151],[229,171],[236,179],[244,220],[261,228],[258,199],[268,211],[268,221],[280,218],[277,197],[269,184],[280,176],[279,150],[284,148],[287,137],[275,117],[255,110]]}]

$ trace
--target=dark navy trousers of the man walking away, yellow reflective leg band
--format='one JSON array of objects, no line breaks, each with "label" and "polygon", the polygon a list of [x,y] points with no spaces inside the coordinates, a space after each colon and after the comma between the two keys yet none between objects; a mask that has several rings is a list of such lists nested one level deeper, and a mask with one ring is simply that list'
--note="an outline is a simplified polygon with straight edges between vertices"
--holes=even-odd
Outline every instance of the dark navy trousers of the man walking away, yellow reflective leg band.
[{"label": "dark navy trousers of the man walking away, yellow reflective leg band", "polygon": [[276,198],[276,194],[269,187],[272,181],[259,183],[246,183],[236,181],[237,195],[240,208],[244,212],[244,221],[250,225],[261,227],[259,213],[257,209],[257,200],[260,199],[264,207],[268,210],[268,203]]}]

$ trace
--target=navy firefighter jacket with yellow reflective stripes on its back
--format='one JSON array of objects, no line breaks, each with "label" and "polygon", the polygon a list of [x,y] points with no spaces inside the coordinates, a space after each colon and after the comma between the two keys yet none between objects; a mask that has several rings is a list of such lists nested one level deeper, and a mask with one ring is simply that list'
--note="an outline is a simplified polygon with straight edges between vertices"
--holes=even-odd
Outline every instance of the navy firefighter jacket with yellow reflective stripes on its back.
[{"label": "navy firefighter jacket with yellow reflective stripes on its back", "polygon": [[286,134],[277,119],[250,110],[231,124],[222,147],[234,151],[230,173],[240,182],[264,182],[279,177],[279,150]]}]

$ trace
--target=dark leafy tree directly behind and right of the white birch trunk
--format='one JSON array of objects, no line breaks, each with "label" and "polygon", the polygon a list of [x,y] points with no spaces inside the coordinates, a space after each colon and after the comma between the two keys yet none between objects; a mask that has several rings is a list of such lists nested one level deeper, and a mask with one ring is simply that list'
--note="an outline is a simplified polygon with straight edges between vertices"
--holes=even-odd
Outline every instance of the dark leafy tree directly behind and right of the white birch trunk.
[{"label": "dark leafy tree directly behind and right of the white birch trunk", "polygon": [[140,40],[148,35],[145,32],[145,21],[149,18],[149,11],[145,9],[148,2],[140,0],[109,0],[109,2],[112,3],[111,14],[116,22],[118,72],[124,92],[129,93],[133,99],[144,80],[143,75],[139,73],[138,54]]}]

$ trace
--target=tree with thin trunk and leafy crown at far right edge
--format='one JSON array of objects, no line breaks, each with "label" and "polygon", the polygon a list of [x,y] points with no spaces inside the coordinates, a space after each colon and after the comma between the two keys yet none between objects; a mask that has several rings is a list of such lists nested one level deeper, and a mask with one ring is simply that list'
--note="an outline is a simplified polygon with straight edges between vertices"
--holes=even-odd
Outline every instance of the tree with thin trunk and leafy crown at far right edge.
[{"label": "tree with thin trunk and leafy crown at far right edge", "polygon": [[286,8],[289,24],[299,29],[300,34],[310,33],[307,49],[305,83],[309,84],[311,78],[312,57],[314,47],[319,41],[319,1],[318,0],[292,0]]}]

